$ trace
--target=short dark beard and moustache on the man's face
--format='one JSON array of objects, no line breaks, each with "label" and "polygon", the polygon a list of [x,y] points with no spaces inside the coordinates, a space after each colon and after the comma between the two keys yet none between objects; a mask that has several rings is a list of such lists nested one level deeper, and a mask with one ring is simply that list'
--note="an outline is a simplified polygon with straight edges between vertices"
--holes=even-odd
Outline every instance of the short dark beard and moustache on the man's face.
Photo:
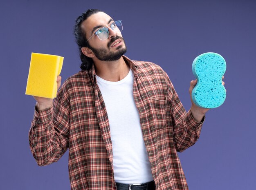
[{"label": "short dark beard and moustache on the man's face", "polygon": [[116,50],[118,50],[117,52],[109,52],[108,50],[110,50],[110,45],[115,42],[115,40],[117,39],[121,39],[124,42],[124,38],[122,38],[121,36],[116,36],[114,38],[111,38],[110,42],[108,42],[108,49],[106,48],[93,48],[88,44],[88,47],[92,50],[92,52],[94,53],[94,55],[101,61],[115,61],[121,58],[122,55],[124,55],[127,51],[125,42],[124,42],[124,47],[122,46],[118,46],[116,48]]}]

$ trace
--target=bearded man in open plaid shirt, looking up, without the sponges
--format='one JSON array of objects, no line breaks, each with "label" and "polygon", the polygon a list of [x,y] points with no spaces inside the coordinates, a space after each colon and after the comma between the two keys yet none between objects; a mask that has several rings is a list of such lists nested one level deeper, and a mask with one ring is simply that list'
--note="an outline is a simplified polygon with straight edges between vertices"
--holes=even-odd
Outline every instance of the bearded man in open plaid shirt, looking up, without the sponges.
[{"label": "bearded man in open plaid shirt, looking up, without the sponges", "polygon": [[177,152],[198,140],[208,109],[192,101],[186,113],[159,66],[123,56],[122,29],[97,9],[77,18],[82,71],[54,101],[34,97],[31,152],[48,165],[69,148],[72,190],[187,190]]}]

